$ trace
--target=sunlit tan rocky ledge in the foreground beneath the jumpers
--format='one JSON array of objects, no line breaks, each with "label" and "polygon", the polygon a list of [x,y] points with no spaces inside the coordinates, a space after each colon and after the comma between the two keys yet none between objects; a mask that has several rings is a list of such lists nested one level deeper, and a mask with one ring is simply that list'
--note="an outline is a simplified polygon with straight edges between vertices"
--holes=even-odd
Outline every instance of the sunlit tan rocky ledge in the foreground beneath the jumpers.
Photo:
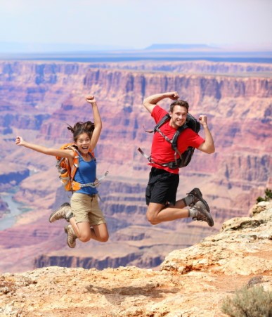
[{"label": "sunlit tan rocky ledge in the foreground beneath the jumpers", "polygon": [[245,285],[272,292],[272,202],[171,252],[160,271],[51,266],[2,274],[0,316],[218,317],[224,299]]}]

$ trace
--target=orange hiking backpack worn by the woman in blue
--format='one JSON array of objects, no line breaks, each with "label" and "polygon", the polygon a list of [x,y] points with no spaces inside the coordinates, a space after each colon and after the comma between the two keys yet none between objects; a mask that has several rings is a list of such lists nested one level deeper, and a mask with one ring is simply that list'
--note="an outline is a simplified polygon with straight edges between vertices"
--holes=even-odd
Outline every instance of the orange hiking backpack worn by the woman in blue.
[{"label": "orange hiking backpack worn by the woman in blue", "polygon": [[[65,190],[67,191],[75,191],[79,190],[80,184],[74,181],[75,173],[77,172],[77,168],[79,167],[79,153],[77,150],[77,146],[73,143],[66,143],[60,147],[61,150],[73,150],[74,151],[74,161],[72,164],[72,168],[70,167],[69,160],[67,157],[56,156],[60,181],[63,183]],[[92,157],[94,157],[93,152],[89,151]]]}]

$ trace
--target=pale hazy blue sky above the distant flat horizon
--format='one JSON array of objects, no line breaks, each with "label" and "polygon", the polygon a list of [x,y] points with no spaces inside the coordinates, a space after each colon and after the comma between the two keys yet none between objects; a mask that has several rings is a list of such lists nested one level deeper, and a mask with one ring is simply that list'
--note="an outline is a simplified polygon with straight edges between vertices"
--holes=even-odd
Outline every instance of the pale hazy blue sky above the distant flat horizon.
[{"label": "pale hazy blue sky above the distant flat horizon", "polygon": [[272,0],[1,0],[0,42],[272,44]]}]

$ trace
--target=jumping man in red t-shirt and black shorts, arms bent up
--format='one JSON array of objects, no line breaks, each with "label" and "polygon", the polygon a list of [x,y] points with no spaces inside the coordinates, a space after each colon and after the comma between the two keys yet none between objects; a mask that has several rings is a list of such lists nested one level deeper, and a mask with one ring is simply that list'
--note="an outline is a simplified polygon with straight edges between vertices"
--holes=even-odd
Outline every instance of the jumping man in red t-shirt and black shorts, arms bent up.
[{"label": "jumping man in red t-shirt and black shorts, arms bent up", "polygon": [[[214,226],[209,205],[202,198],[199,188],[194,188],[185,198],[176,201],[179,167],[173,168],[165,164],[175,160],[174,150],[165,136],[171,140],[176,130],[186,123],[189,105],[186,101],[179,100],[179,94],[176,91],[157,93],[145,98],[143,105],[155,119],[156,124],[167,114],[166,110],[157,105],[164,98],[170,98],[174,102],[171,103],[169,109],[170,120],[164,122],[160,127],[160,133],[156,132],[153,136],[150,155],[152,168],[145,190],[145,200],[148,205],[147,219],[150,224],[156,225],[164,221],[191,217],[193,220],[206,221],[209,226]],[[189,146],[207,154],[214,153],[214,141],[209,131],[207,117],[200,115],[199,120],[204,129],[205,138],[192,129],[184,129],[177,141],[179,153],[183,153]],[[189,208],[186,208],[187,206]]]}]

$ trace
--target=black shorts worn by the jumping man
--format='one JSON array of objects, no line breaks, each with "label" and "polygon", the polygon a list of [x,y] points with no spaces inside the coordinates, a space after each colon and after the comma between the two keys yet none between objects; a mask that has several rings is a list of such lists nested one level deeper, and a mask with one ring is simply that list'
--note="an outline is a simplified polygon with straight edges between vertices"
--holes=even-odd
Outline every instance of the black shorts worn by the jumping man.
[{"label": "black shorts worn by the jumping man", "polygon": [[172,205],[176,203],[176,190],[179,186],[179,174],[169,173],[164,169],[152,167],[149,174],[148,186],[145,190],[146,205],[150,202]]}]

